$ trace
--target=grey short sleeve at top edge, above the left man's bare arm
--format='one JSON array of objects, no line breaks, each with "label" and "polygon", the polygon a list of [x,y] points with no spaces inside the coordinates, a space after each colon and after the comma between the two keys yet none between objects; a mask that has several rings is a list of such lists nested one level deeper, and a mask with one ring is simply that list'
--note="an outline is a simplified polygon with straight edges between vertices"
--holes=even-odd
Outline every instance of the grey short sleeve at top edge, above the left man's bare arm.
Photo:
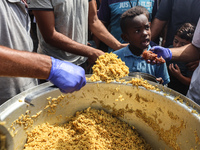
[{"label": "grey short sleeve at top edge, above the left man's bare arm", "polygon": [[52,10],[51,0],[30,0],[28,4],[29,10]]}]

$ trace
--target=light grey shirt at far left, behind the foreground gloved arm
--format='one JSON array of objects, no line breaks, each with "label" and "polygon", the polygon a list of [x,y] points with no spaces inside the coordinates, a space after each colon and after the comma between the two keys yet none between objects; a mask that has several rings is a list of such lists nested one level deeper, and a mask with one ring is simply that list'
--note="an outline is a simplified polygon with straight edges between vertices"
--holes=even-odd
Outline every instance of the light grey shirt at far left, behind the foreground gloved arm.
[{"label": "light grey shirt at far left, behind the foreground gloved arm", "polygon": [[[0,45],[17,50],[33,50],[30,19],[21,0],[0,0]],[[33,78],[0,77],[0,104],[37,85]]]}]

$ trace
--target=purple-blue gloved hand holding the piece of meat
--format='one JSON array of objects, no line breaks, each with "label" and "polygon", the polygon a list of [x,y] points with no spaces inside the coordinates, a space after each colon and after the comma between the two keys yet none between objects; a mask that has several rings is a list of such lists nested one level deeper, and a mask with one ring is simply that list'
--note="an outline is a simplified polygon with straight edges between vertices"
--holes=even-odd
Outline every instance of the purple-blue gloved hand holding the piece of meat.
[{"label": "purple-blue gloved hand holding the piece of meat", "polygon": [[162,56],[166,61],[170,61],[172,59],[172,52],[168,48],[154,46],[150,49],[150,51],[156,53],[158,58]]}]

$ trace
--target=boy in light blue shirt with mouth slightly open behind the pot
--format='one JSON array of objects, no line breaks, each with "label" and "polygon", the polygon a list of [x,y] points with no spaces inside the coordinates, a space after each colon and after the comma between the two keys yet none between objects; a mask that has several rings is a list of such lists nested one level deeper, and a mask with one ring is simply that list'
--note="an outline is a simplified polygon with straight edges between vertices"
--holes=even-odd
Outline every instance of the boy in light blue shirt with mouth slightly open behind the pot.
[{"label": "boy in light blue shirt with mouth slightly open behind the pot", "polygon": [[163,84],[166,85],[170,81],[166,63],[151,65],[141,57],[143,51],[151,48],[151,31],[147,12],[146,8],[135,6],[122,14],[121,37],[130,44],[114,53],[125,62],[130,72],[144,72],[157,78],[161,77]]}]

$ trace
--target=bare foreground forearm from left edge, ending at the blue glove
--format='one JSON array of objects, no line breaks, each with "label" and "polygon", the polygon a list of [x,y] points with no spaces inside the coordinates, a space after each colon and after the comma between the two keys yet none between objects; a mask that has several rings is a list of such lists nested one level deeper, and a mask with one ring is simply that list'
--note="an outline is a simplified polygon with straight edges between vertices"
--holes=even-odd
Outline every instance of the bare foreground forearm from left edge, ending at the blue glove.
[{"label": "bare foreground forearm from left edge, ending at the blue glove", "polygon": [[0,76],[47,79],[51,58],[37,53],[13,50],[0,46]]}]

